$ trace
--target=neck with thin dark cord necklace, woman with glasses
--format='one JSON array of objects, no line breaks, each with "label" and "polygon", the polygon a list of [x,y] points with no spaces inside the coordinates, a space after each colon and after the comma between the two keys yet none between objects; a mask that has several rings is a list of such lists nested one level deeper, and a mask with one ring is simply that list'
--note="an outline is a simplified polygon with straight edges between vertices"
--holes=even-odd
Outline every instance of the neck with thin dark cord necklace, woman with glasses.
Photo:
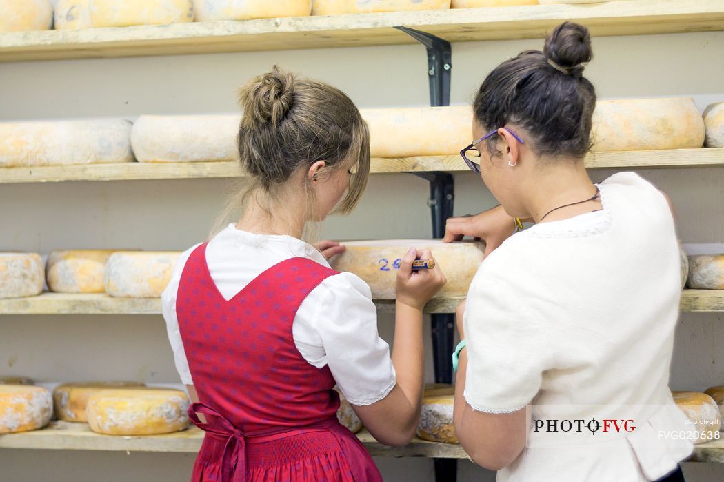
[{"label": "neck with thin dark cord necklace, woman with glasses", "polygon": [[[526,204],[536,223],[560,221],[600,207],[599,200],[596,200],[560,208],[566,204],[591,198],[596,192],[596,187],[586,172],[583,161],[571,159],[555,162],[556,164],[539,168],[534,181],[526,187],[529,193]],[[553,209],[555,211],[551,212]]]}]

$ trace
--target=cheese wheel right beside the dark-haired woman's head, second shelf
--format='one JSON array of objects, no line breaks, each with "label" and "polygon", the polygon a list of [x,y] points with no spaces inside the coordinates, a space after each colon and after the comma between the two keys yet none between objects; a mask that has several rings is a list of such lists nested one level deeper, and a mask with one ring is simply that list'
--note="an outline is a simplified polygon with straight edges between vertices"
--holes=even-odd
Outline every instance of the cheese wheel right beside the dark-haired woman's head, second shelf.
[{"label": "cheese wheel right beside the dark-haired woman's head, second shelf", "polygon": [[592,138],[594,151],[700,148],[704,120],[689,97],[599,101]]}]

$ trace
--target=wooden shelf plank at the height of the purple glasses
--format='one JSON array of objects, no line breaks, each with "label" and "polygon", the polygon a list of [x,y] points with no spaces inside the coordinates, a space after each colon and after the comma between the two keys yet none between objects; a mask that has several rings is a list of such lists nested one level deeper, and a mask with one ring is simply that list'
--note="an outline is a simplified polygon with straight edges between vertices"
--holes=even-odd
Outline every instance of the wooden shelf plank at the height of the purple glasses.
[{"label": "wooden shelf plank at the height of the purple glasses", "polygon": [[[590,169],[642,169],[662,167],[724,166],[724,148],[672,149],[592,153]],[[372,174],[395,172],[470,172],[460,156],[373,158]],[[16,182],[127,181],[134,179],[198,179],[239,177],[236,162],[79,164],[0,168],[0,184]]]}]

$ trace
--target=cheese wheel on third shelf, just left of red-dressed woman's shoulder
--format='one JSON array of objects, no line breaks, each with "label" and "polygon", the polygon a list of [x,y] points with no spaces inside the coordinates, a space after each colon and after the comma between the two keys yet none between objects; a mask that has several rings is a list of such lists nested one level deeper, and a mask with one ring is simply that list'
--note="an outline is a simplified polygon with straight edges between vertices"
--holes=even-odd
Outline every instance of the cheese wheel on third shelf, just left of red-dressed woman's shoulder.
[{"label": "cheese wheel on third shelf, just left of red-dressed woman's shoulder", "polygon": [[172,251],[113,253],[106,263],[106,292],[117,297],[160,297],[180,254]]}]

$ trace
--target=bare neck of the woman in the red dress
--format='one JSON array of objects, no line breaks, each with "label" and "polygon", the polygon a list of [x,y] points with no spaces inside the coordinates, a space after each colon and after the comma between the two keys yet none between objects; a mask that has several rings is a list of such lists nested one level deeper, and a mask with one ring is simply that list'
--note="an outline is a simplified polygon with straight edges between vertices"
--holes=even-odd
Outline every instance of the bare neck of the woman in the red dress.
[{"label": "bare neck of the woman in the red dress", "polygon": [[[284,195],[280,198],[286,198]],[[237,229],[254,234],[280,234],[301,239],[306,224],[306,203],[269,202],[269,197],[261,194],[253,196],[248,208],[236,224]]]}]

